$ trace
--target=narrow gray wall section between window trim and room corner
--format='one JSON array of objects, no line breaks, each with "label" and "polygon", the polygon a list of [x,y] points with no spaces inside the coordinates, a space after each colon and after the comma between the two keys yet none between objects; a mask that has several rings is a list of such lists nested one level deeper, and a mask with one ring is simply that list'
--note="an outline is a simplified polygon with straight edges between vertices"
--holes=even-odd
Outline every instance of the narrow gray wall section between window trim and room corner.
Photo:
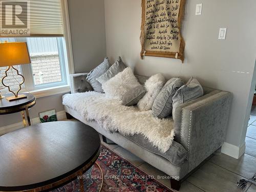
[{"label": "narrow gray wall section between window trim and room corner", "polygon": [[75,72],[87,72],[106,56],[104,0],[68,0]]}]

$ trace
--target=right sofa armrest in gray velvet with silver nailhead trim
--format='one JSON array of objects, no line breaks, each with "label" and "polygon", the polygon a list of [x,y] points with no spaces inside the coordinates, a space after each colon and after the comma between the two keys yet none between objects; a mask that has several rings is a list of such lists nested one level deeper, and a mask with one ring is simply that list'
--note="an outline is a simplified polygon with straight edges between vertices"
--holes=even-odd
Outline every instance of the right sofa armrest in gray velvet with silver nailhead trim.
[{"label": "right sofa armrest in gray velvet with silver nailhead trim", "polygon": [[180,106],[180,143],[188,151],[189,171],[224,143],[231,98],[229,92],[215,91]]}]

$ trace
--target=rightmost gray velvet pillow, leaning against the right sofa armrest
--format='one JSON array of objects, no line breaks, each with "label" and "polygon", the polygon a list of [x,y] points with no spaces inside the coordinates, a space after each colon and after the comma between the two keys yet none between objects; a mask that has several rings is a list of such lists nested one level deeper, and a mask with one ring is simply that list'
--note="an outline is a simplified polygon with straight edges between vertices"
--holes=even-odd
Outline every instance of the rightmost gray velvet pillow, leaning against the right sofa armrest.
[{"label": "rightmost gray velvet pillow, leaning against the right sofa armrest", "polygon": [[189,102],[203,96],[204,91],[197,79],[191,77],[184,86],[182,86],[173,97],[173,114],[179,104]]}]

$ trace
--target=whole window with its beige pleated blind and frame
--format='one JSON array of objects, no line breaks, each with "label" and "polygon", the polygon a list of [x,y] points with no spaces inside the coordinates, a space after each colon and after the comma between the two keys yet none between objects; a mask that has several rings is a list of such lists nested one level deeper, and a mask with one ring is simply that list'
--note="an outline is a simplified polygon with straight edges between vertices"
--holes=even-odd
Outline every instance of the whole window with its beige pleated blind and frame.
[{"label": "whole window with its beige pleated blind and frame", "polygon": [[[23,84],[25,91],[68,85],[67,76],[69,72],[73,73],[73,59],[67,1],[30,0],[28,2],[30,34],[14,37],[0,34],[0,42],[27,42],[31,65],[14,66],[25,77],[25,84]],[[12,12],[10,11],[8,15],[12,15]],[[64,31],[65,37],[63,35]],[[68,40],[68,47],[66,46],[66,40]],[[67,54],[67,48],[69,55]],[[0,53],[0,56],[3,55]],[[6,69],[7,67],[0,67],[0,80],[5,76]],[[20,79],[14,72],[14,70],[9,70],[9,77],[5,81],[11,86],[11,89],[15,90],[18,88]],[[7,91],[7,88],[4,91]]]}]

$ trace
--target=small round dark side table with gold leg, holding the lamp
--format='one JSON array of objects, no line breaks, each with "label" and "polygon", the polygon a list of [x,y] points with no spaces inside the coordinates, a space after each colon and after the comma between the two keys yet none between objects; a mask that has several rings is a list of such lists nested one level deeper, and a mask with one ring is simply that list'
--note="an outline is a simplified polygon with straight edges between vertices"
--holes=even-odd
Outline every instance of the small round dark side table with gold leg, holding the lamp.
[{"label": "small round dark side table with gold leg, holding the lamp", "polygon": [[[13,94],[6,94],[5,97],[9,97],[12,95]],[[36,98],[34,95],[30,93],[23,93],[23,95],[26,95],[27,98],[16,100],[16,101],[8,101],[5,98],[0,99],[0,115],[21,112],[23,124],[24,126],[27,126],[24,111],[26,111],[28,124],[31,125],[30,117],[29,117],[29,109],[35,105]]]}]

